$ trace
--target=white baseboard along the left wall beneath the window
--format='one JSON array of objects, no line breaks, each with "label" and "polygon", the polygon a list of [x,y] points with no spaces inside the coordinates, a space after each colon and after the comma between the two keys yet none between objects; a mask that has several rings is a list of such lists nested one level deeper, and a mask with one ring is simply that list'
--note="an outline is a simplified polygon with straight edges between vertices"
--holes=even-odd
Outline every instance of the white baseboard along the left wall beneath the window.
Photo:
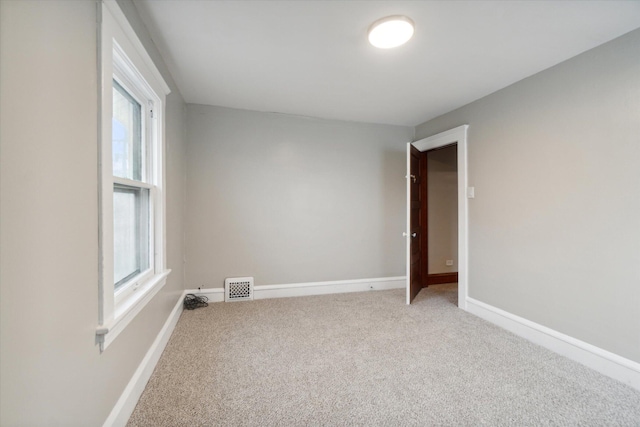
[{"label": "white baseboard along the left wall beneath the window", "polygon": [[147,354],[145,354],[142,362],[138,365],[138,369],[136,369],[131,380],[129,380],[129,384],[127,384],[127,387],[120,395],[120,399],[118,399],[118,402],[116,402],[116,405],[111,410],[109,417],[104,422],[104,427],[125,426],[127,421],[129,421],[129,417],[136,408],[138,400],[140,399],[140,396],[142,396],[142,392],[144,391],[149,378],[151,378],[151,374],[153,373],[158,360],[160,360],[160,356],[162,355],[164,348],[167,346],[167,342],[169,342],[169,338],[178,323],[180,314],[182,314],[182,301],[184,299],[184,295],[185,294],[183,293],[169,314],[169,317],[164,322],[162,329],[158,332],[156,339],[153,341],[153,344],[151,344],[151,347],[149,347]]}]

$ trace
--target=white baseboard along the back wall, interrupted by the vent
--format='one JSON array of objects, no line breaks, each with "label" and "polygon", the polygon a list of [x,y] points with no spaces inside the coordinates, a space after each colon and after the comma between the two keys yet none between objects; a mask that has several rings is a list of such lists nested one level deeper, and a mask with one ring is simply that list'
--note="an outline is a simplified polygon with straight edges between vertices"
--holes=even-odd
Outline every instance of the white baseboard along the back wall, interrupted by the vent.
[{"label": "white baseboard along the back wall, interrupted by the vent", "polygon": [[[253,287],[253,299],[380,291],[385,289],[399,289],[405,286],[406,278],[404,276],[334,280],[329,282],[289,283],[286,285],[262,285]],[[210,302],[224,301],[223,288],[191,289],[187,291],[187,293],[206,296]]]}]

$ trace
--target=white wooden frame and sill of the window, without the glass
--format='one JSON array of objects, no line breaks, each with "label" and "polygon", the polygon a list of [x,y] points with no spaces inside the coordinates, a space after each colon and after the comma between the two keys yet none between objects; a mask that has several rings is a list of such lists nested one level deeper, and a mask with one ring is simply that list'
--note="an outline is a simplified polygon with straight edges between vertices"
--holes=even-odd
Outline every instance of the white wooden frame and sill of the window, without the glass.
[{"label": "white wooden frame and sill of the window, without the glass", "polygon": [[[170,90],[149,54],[137,38],[115,0],[99,7],[99,310],[96,341],[100,351],[125,329],[166,284],[164,108]],[[147,140],[147,179],[132,181],[113,176],[112,114],[113,80],[142,106],[143,134]],[[148,144],[148,145],[146,145]],[[148,189],[150,269],[115,290],[113,188],[115,184]]]}]

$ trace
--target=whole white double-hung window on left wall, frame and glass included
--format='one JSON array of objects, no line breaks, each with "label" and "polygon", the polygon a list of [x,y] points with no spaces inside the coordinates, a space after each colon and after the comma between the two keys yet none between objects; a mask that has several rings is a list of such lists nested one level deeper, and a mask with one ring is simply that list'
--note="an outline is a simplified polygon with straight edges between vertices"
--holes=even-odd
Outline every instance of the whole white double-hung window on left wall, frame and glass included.
[{"label": "whole white double-hung window on left wall, frame and glass included", "polygon": [[102,2],[100,310],[103,351],[164,286],[166,83],[115,0]]}]

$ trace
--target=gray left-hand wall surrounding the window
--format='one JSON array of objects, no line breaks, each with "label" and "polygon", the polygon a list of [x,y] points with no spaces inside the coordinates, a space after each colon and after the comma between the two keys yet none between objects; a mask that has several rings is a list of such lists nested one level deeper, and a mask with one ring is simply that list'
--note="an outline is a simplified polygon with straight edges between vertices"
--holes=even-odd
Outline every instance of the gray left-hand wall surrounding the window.
[{"label": "gray left-hand wall surrounding the window", "polygon": [[94,1],[0,1],[3,426],[102,425],[183,289],[184,103],[164,72],[173,273],[100,354],[96,25]]}]

